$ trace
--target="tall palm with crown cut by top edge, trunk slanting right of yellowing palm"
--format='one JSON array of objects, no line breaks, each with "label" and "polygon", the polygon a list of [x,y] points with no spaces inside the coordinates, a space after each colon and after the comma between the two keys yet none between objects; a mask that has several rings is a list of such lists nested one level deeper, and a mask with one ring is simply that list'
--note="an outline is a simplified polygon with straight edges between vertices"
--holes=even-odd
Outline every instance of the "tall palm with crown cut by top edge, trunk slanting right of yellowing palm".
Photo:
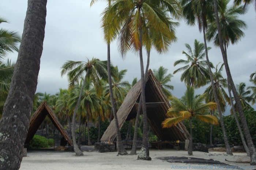
[{"label": "tall palm with crown cut by top edge, trunk slanting right of yellowing palm", "polygon": [[[185,16],[185,20],[187,21],[187,23],[190,25],[195,25],[195,21],[197,20],[199,31],[203,32],[204,48],[205,48],[205,53],[206,53],[205,56],[206,56],[206,61],[207,61],[207,65],[208,65],[211,86],[212,86],[212,89],[214,89],[214,80],[213,80],[213,75],[212,75],[212,71],[211,71],[211,63],[208,58],[208,49],[207,49],[206,33],[205,33],[207,30],[207,22],[211,22],[213,20],[212,1],[182,0],[181,5],[183,7],[183,15]],[[219,105],[218,96],[217,96],[217,93],[215,90],[213,90],[213,94],[214,94],[215,103],[217,103],[219,119],[221,122],[222,131],[223,131],[223,138],[224,138],[224,142],[226,145],[226,152],[229,155],[233,155],[233,153],[230,150],[229,142],[227,140],[226,130],[225,130],[225,126],[224,126],[224,122],[223,122],[223,118],[222,118],[221,107]]]}]

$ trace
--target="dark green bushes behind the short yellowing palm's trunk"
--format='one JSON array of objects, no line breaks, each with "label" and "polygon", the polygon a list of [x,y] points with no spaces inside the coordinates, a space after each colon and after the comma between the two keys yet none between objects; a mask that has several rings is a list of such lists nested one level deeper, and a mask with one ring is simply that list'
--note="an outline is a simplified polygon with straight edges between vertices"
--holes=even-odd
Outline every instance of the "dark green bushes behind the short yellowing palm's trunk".
[{"label": "dark green bushes behind the short yellowing palm's trunk", "polygon": [[[211,124],[200,121],[195,117],[192,117],[192,122],[193,142],[210,144]],[[185,120],[184,125],[186,126],[187,130],[190,131],[189,120]],[[212,125],[212,136],[216,136],[217,133],[218,126]],[[214,143],[214,137],[212,137],[212,140]]]}]

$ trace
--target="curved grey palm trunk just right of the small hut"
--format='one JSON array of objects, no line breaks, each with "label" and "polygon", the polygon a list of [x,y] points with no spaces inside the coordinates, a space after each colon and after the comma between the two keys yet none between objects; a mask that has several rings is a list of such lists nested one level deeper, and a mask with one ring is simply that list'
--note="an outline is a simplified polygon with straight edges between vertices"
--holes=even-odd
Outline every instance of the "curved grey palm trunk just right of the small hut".
[{"label": "curved grey palm trunk just right of the small hut", "polygon": [[78,148],[77,144],[76,144],[76,134],[75,134],[75,120],[76,120],[76,113],[78,111],[78,107],[81,101],[81,97],[82,97],[82,93],[83,93],[83,88],[84,85],[86,83],[86,78],[87,78],[87,73],[85,74],[84,80],[83,80],[83,84],[80,90],[80,94],[78,97],[78,101],[76,103],[76,107],[75,107],[75,111],[72,117],[72,140],[73,140],[73,147],[74,147],[74,151],[76,153],[77,156],[83,156],[83,152]]}]

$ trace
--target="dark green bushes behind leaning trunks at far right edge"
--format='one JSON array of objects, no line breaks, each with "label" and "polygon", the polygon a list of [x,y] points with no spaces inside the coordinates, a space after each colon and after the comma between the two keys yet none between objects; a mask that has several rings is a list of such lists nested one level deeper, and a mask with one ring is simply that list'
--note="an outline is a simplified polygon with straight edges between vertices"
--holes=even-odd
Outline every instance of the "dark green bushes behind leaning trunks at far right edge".
[{"label": "dark green bushes behind leaning trunks at far right edge", "polygon": [[[246,122],[247,122],[247,125],[249,128],[250,134],[252,136],[253,143],[254,143],[254,145],[256,145],[256,134],[255,134],[255,132],[256,132],[256,124],[255,124],[256,111],[252,107],[245,107],[243,110],[244,110],[244,116],[245,116],[245,119],[246,119]],[[238,117],[238,121],[241,125],[239,115],[238,115],[238,113],[236,113],[236,114]],[[226,128],[226,133],[227,133],[227,138],[229,140],[229,143],[235,144],[235,145],[242,145],[241,137],[240,137],[240,134],[238,131],[238,127],[237,127],[234,115],[224,116],[223,120],[224,120],[224,125]],[[242,128],[242,126],[241,126],[241,128]],[[218,136],[217,137],[219,139],[223,140],[223,133],[222,133],[220,125],[218,127]]]}]

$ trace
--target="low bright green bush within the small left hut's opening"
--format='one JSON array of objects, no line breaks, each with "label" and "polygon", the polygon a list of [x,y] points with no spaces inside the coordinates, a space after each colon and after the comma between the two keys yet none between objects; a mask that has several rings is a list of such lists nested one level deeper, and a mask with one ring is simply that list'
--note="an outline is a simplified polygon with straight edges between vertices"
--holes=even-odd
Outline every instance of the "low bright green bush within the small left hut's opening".
[{"label": "low bright green bush within the small left hut's opening", "polygon": [[44,136],[34,135],[29,144],[29,147],[34,149],[49,148],[53,146],[53,143],[53,139],[47,139]]}]

